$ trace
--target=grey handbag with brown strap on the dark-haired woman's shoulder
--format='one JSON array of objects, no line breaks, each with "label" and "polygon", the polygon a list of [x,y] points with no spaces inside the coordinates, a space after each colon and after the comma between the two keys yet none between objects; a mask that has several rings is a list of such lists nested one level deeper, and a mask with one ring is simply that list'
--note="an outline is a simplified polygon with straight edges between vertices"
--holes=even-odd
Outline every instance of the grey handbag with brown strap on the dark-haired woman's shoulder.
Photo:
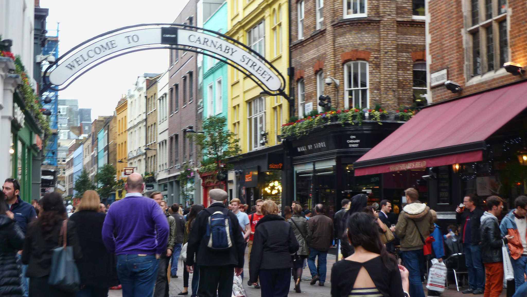
[{"label": "grey handbag with brown strap on the dark-haired woman's shoulder", "polygon": [[62,291],[75,292],[79,290],[81,280],[73,258],[73,246],[66,245],[66,229],[67,221],[64,220],[58,237],[59,246],[53,249],[50,277],[47,283]]}]

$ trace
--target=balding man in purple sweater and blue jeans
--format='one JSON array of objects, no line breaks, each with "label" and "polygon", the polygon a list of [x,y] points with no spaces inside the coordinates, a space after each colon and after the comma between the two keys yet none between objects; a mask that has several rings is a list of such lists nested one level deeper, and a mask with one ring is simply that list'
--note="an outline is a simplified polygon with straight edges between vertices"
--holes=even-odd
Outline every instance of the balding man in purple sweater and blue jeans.
[{"label": "balding man in purple sweater and blue jeans", "polygon": [[141,195],[138,173],[128,176],[127,194],[108,210],[102,228],[106,249],[117,255],[117,274],[123,297],[154,293],[160,255],[167,250],[169,225],[155,200]]}]

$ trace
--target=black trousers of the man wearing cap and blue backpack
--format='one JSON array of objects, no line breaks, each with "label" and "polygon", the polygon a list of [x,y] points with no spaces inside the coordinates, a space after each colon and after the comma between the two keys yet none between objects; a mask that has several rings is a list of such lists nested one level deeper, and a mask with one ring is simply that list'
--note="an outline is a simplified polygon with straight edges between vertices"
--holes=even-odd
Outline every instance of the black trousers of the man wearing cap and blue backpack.
[{"label": "black trousers of the man wearing cap and blue backpack", "polygon": [[234,266],[199,266],[198,296],[231,297],[233,279]]}]

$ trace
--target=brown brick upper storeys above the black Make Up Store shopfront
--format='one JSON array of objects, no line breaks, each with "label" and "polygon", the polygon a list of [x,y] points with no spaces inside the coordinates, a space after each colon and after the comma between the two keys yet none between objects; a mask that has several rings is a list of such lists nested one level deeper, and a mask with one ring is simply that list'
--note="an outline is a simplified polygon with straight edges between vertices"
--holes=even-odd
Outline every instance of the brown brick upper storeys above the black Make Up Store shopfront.
[{"label": "brown brick upper storeys above the black Make Up Store shopfront", "polygon": [[[306,108],[322,111],[317,98],[323,94],[332,98],[337,109],[369,109],[379,103],[395,110],[411,106],[414,93],[422,100],[419,94],[426,91],[424,1],[290,3],[291,66],[299,117]],[[414,73],[421,75],[414,77]],[[340,85],[326,85],[328,76]],[[416,79],[421,85],[414,86]]]}]

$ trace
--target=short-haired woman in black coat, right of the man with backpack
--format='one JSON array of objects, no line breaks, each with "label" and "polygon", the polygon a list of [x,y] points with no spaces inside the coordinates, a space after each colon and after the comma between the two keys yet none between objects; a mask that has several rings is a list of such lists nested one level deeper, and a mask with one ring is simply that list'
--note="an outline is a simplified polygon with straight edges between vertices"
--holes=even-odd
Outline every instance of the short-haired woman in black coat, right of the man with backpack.
[{"label": "short-haired woman in black coat, right of the man with backpack", "polygon": [[277,215],[276,203],[265,200],[261,212],[264,217],[256,224],[252,241],[249,282],[260,277],[262,297],[285,297],[291,282],[291,254],[298,250],[298,242],[289,223]]}]

